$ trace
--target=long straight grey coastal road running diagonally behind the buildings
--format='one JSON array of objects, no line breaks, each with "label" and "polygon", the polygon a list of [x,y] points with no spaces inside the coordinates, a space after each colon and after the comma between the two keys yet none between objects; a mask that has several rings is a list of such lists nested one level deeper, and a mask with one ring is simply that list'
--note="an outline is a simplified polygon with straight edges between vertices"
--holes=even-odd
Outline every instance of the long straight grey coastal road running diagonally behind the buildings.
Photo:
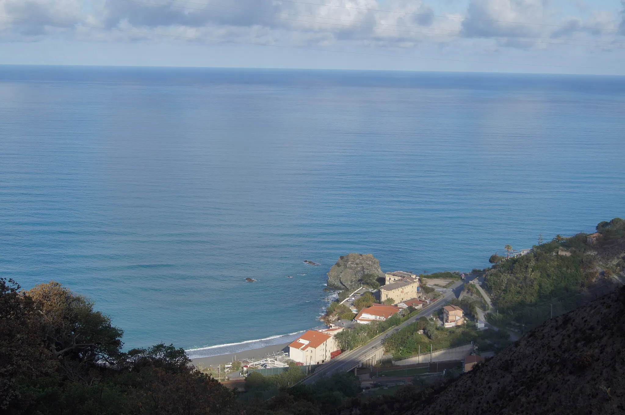
[{"label": "long straight grey coastal road running diagonally behind the buildings", "polygon": [[463,284],[464,281],[457,281],[449,288],[440,290],[443,296],[440,300],[436,301],[436,303],[427,306],[417,315],[412,316],[408,320],[404,321],[404,323],[401,323],[401,325],[396,326],[389,331],[386,331],[386,333],[380,334],[379,336],[371,339],[368,343],[363,344],[359,348],[347,351],[346,353],[342,353],[336,358],[329,361],[329,363],[322,364],[321,366],[319,366],[319,368],[316,369],[316,371],[314,371],[314,373],[303,379],[301,383],[312,384],[319,380],[319,378],[321,378],[322,376],[332,376],[332,374],[334,373],[346,372],[354,369],[362,361],[366,360],[367,358],[369,358],[369,356],[374,354],[376,350],[382,346],[382,340],[387,338],[387,336],[396,333],[397,331],[401,330],[402,328],[406,327],[410,323],[413,323],[423,316],[431,315],[432,312],[439,310],[439,308],[446,305],[452,298],[457,298],[460,291],[462,291]]}]

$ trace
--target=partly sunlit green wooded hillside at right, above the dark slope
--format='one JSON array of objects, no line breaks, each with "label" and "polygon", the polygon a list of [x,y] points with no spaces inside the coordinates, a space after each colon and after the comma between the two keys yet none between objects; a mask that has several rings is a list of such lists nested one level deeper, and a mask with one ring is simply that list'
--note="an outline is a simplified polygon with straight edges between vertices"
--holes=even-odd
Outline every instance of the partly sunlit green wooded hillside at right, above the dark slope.
[{"label": "partly sunlit green wooded hillside at right, above the dark slope", "polygon": [[485,288],[494,300],[497,326],[534,328],[571,311],[587,298],[604,295],[604,285],[625,281],[625,220],[597,225],[597,237],[557,235],[519,258],[491,256]]}]

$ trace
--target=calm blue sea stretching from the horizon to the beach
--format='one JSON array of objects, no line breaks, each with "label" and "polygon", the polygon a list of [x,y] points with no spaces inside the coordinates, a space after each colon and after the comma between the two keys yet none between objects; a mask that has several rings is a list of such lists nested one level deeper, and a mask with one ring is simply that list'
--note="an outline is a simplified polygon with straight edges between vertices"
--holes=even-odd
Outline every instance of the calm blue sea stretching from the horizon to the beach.
[{"label": "calm blue sea stretching from the horizon to the beach", "polygon": [[126,348],[285,343],[340,255],[466,271],[617,216],[625,77],[0,66],[0,276]]}]

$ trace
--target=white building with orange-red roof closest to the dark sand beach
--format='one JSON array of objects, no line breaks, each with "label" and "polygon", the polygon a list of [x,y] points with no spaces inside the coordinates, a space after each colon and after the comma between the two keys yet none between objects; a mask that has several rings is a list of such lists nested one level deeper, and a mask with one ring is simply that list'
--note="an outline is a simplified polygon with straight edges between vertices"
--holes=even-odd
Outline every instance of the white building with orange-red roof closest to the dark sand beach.
[{"label": "white building with orange-red roof closest to the dark sand beach", "polygon": [[321,364],[337,356],[340,348],[334,335],[342,331],[340,327],[322,330],[308,330],[289,344],[289,358],[303,364]]}]

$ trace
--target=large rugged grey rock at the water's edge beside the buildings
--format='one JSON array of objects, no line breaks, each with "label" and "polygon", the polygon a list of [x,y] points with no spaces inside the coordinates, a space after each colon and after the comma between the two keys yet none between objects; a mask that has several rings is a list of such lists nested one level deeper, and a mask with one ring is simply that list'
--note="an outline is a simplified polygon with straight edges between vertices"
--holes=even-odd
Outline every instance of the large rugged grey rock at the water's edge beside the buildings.
[{"label": "large rugged grey rock at the water's edge beside the buildings", "polygon": [[344,290],[346,288],[356,289],[360,286],[360,280],[365,275],[375,275],[383,277],[384,273],[380,269],[380,261],[370,253],[350,253],[341,256],[336,264],[332,265],[327,273],[327,286]]}]

